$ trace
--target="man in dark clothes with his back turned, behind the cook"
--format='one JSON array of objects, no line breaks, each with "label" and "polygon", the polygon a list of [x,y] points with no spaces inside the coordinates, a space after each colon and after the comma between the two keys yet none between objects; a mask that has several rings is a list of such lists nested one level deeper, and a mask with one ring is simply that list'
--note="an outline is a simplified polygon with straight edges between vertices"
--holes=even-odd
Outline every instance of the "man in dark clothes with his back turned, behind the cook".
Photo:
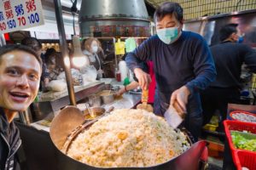
[{"label": "man in dark clothes with his back turned, behind the cook", "polygon": [[227,116],[228,103],[238,104],[240,101],[241,65],[245,63],[250,71],[256,72],[256,52],[246,44],[238,43],[241,38],[238,25],[231,23],[220,29],[220,43],[211,47],[217,77],[201,93],[203,124],[210,122],[215,111],[219,111],[219,131],[223,131],[222,122]]}]

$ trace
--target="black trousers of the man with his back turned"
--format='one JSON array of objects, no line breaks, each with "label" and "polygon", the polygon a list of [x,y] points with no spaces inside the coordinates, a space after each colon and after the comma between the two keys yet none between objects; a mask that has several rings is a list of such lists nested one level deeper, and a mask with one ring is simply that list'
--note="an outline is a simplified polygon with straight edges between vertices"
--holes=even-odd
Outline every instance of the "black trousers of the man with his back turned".
[{"label": "black trousers of the man with his back turned", "polygon": [[201,93],[203,125],[210,122],[215,111],[219,111],[222,126],[222,122],[227,117],[228,104],[239,104],[239,102],[239,88],[207,88]]}]

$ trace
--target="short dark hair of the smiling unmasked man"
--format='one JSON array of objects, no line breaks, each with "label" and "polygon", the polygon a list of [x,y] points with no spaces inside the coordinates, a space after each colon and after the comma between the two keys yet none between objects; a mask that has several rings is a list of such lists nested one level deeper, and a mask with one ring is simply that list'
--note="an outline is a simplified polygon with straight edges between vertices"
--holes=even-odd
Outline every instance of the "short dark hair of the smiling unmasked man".
[{"label": "short dark hair of the smiling unmasked man", "polygon": [[1,47],[0,48],[0,64],[2,62],[3,54],[7,54],[7,53],[10,53],[10,52],[15,51],[15,50],[24,51],[28,54],[32,54],[33,56],[35,56],[35,58],[38,59],[38,62],[39,62],[40,67],[42,69],[42,65],[43,65],[42,59],[38,56],[38,54],[32,48],[29,48],[25,45],[11,44],[11,45],[5,45],[5,46]]}]

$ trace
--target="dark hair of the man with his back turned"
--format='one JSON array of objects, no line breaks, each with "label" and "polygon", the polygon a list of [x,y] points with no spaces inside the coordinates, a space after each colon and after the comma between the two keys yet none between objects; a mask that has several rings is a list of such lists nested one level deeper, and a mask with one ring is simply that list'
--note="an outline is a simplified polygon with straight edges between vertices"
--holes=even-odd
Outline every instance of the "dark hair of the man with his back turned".
[{"label": "dark hair of the man with his back turned", "polygon": [[221,27],[221,29],[219,30],[219,40],[223,42],[225,39],[230,37],[231,34],[236,33],[237,26],[238,24],[231,23]]}]

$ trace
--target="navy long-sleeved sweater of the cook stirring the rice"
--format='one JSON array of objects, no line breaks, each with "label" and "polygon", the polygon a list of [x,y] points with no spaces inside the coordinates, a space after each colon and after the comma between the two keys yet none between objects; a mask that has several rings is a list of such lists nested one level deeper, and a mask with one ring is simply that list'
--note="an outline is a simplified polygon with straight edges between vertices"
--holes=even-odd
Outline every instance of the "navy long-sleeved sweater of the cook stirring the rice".
[{"label": "navy long-sleeved sweater of the cook stirring the rice", "polygon": [[176,42],[166,44],[154,35],[125,58],[131,71],[141,68],[139,63],[142,60],[154,63],[161,102],[169,104],[172,92],[186,85],[191,92],[188,110],[201,112],[199,90],[207,88],[216,77],[212,54],[203,37],[183,31]]}]

